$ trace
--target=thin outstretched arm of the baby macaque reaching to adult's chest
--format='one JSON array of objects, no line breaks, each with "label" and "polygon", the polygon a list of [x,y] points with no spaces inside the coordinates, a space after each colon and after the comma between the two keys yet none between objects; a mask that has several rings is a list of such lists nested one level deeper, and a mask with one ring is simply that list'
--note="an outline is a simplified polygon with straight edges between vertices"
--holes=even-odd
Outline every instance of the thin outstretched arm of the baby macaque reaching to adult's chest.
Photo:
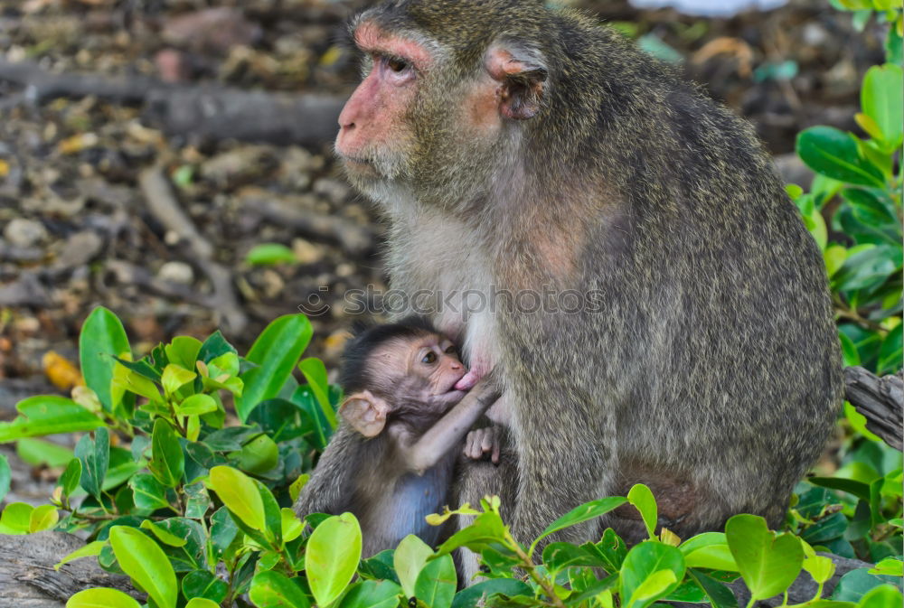
[{"label": "thin outstretched arm of the baby macaque reaching to adult's chest", "polygon": [[459,444],[471,426],[501,395],[492,380],[481,380],[456,407],[448,411],[426,433],[414,435],[400,432],[400,460],[412,472],[422,474]]}]

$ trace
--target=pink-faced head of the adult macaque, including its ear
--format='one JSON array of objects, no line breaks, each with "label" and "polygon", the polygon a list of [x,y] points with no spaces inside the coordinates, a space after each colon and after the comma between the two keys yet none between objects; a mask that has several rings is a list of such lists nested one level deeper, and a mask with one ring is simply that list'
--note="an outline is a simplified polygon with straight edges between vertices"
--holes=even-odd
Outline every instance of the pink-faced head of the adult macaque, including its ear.
[{"label": "pink-faced head of the adult macaque, including its ear", "polygon": [[541,51],[500,35],[465,52],[447,32],[380,10],[353,26],[364,80],[339,117],[336,154],[359,190],[390,207],[407,193],[444,206],[450,195],[478,199],[494,174],[512,173],[497,165],[511,163],[520,124],[541,109]]}]

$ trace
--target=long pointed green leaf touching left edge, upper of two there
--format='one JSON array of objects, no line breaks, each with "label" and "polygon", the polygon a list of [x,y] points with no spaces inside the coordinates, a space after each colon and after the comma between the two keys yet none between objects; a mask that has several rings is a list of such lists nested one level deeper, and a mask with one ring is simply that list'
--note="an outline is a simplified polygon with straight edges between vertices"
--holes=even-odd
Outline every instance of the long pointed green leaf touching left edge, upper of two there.
[{"label": "long pointed green leaf touching left edge, upper of two there", "polygon": [[0,423],[0,444],[22,437],[93,431],[104,426],[98,416],[65,397],[38,395],[23,399],[15,408],[21,416],[13,422]]}]

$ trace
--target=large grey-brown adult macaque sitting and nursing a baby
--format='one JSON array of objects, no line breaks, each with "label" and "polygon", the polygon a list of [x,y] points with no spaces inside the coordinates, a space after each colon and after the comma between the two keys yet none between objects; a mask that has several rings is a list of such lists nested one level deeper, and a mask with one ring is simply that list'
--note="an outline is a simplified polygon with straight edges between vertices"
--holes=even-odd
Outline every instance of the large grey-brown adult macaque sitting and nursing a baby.
[{"label": "large grey-brown adult macaque sitting and nursing a baby", "polygon": [[[503,365],[514,535],[635,482],[683,537],[777,525],[841,360],[819,248],[749,125],[541,0],[397,0],[351,28],[335,149],[389,222],[391,286],[454,304],[432,316],[475,372],[460,388]],[[578,310],[518,297],[569,290]]]}]

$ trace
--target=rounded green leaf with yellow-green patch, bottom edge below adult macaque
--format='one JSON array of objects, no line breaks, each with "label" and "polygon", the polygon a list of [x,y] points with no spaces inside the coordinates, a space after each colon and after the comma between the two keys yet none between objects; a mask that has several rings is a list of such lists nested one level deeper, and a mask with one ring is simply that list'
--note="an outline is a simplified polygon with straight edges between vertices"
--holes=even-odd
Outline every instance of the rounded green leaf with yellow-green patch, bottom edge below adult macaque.
[{"label": "rounded green leaf with yellow-green patch, bottom edge below adult macaque", "polygon": [[647,540],[627,552],[620,572],[626,608],[644,608],[671,593],[684,577],[684,557],[675,547]]}]

